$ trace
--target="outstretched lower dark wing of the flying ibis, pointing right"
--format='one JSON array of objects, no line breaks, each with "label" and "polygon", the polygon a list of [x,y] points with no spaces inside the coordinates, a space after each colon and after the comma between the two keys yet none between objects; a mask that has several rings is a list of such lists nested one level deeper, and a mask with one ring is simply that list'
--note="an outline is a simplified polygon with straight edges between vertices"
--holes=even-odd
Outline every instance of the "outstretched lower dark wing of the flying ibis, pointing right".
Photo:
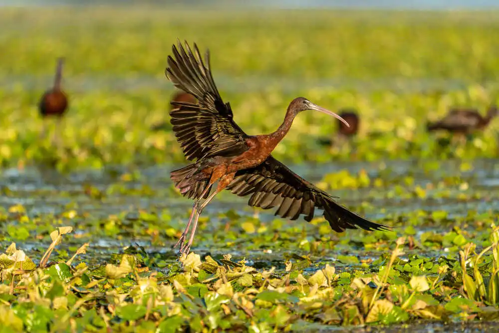
[{"label": "outstretched lower dark wing of the flying ibis, pointing right", "polygon": [[324,218],[337,232],[356,228],[390,230],[390,227],[368,221],[337,204],[332,196],[272,156],[254,168],[238,171],[227,189],[239,196],[251,194],[250,206],[263,209],[277,207],[275,215],[291,220],[304,215],[306,221],[311,221],[315,208],[323,209]]}]

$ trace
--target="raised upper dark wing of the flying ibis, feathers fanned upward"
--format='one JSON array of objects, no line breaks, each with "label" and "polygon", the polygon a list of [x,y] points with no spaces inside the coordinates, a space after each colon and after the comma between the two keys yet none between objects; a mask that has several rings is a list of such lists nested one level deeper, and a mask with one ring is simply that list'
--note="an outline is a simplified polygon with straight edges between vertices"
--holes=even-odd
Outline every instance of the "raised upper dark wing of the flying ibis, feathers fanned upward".
[{"label": "raised upper dark wing of the flying ibis, feathers fanned upward", "polygon": [[[172,47],[166,76],[173,84],[198,100],[197,104],[176,102],[170,111],[173,131],[188,160],[211,156],[237,156],[248,150],[248,135],[234,122],[231,105],[224,103],[213,80],[210,53],[205,62],[194,44]],[[179,51],[180,50],[180,51]]]}]

